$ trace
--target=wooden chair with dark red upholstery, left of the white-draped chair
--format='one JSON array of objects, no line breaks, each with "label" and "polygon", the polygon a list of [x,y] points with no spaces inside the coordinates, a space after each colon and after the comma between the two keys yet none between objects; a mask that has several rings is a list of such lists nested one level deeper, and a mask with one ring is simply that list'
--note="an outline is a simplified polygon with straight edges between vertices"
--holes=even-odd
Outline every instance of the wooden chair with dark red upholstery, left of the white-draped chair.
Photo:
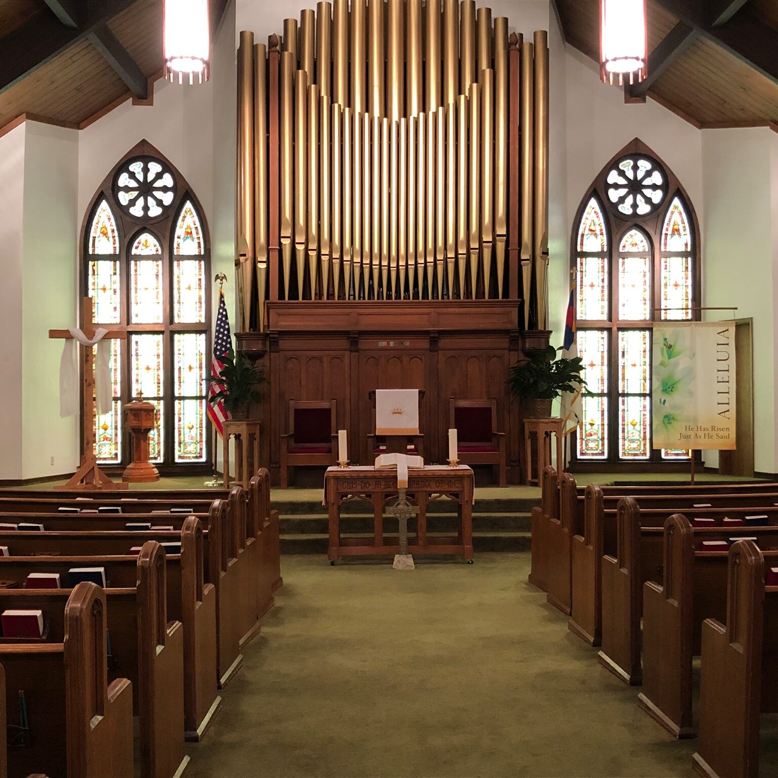
[{"label": "wooden chair with dark red upholstery, left of the white-draped chair", "polygon": [[281,488],[289,468],[329,467],[338,458],[335,400],[289,400],[289,432],[281,441]]}]

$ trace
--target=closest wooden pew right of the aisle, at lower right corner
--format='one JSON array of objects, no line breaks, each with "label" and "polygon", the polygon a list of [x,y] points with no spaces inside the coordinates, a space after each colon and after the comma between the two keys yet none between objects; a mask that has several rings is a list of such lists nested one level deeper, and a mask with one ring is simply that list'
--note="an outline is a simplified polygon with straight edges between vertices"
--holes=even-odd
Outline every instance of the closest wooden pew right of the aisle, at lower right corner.
[{"label": "closest wooden pew right of the aisle, at lower right corner", "polygon": [[759,775],[759,714],[778,712],[778,587],[752,541],[729,550],[726,623],[703,623],[699,746],[705,776]]}]

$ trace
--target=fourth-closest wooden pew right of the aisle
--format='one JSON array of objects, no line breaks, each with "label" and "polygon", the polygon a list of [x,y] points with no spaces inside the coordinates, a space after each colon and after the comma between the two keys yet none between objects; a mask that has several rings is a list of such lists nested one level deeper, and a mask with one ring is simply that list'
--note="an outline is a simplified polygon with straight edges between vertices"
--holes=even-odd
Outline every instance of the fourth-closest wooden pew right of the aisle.
[{"label": "fourth-closest wooden pew right of the aisle", "polygon": [[[604,507],[603,495],[596,485],[587,486],[587,503],[584,512],[583,526],[580,514],[576,520],[564,518],[571,525],[571,555],[570,555],[570,621],[569,629],[593,646],[601,643],[602,612],[601,612],[601,580],[602,560],[605,554],[615,554],[616,548],[616,517],[618,502],[611,502]],[[644,525],[653,524],[661,527],[671,513],[678,510],[693,510],[695,516],[717,517],[731,515],[732,517],[750,513],[774,514],[776,499],[770,499],[772,492],[765,494],[700,494],[696,496],[649,496],[629,498],[640,504],[640,513]],[[570,505],[569,498],[562,496],[562,503]],[[622,498],[619,498],[619,500]],[[761,502],[764,500],[764,502]],[[710,503],[711,508],[694,508],[695,503]],[[766,506],[765,506],[766,503]],[[661,542],[656,545],[658,559],[661,559]],[[555,562],[565,569],[564,559]],[[661,561],[657,562],[657,565]],[[559,574],[557,574],[559,580]],[[652,576],[649,576],[652,577]],[[645,579],[648,580],[648,579]]]}]

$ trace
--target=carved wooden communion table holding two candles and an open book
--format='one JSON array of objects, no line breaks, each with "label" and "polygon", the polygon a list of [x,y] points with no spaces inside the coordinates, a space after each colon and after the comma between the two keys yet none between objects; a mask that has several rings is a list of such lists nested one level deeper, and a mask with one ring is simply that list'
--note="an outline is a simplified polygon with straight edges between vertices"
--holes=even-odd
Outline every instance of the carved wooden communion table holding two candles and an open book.
[{"label": "carved wooden communion table holding two candles and an open book", "polygon": [[[432,465],[409,468],[408,500],[419,509],[415,537],[408,538],[408,554],[463,555],[473,559],[472,505],[473,471],[466,465],[450,468]],[[398,498],[397,472],[373,467],[328,468],[324,474],[324,499],[329,515],[328,559],[334,565],[341,556],[394,556],[400,552],[397,538],[384,541],[384,514]],[[457,506],[459,527],[455,536],[427,534],[427,506],[439,499],[450,499]],[[341,537],[343,506],[357,501],[373,506],[373,538]],[[394,531],[394,527],[392,527]]]}]

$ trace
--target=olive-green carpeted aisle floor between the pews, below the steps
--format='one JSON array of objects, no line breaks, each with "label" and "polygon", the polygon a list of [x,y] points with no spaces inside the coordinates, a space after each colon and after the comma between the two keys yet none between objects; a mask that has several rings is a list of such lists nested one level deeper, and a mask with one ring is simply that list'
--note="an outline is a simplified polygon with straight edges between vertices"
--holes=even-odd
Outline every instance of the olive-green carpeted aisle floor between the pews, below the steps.
[{"label": "olive-green carpeted aisle floor between the pews, below the steps", "polygon": [[598,667],[529,564],[284,556],[188,776],[693,775],[696,741],[664,734]]}]

